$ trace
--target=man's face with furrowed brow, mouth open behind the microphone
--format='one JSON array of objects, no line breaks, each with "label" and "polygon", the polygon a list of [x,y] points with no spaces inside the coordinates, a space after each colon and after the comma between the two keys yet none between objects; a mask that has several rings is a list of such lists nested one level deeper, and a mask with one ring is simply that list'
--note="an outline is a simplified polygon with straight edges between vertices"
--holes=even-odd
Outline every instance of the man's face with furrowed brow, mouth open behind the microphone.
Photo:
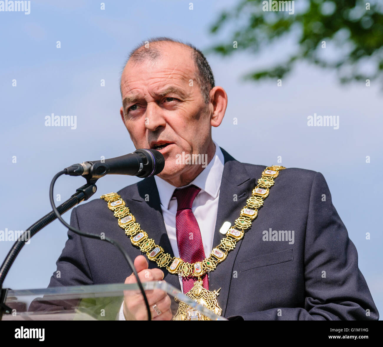
[{"label": "man's face with furrowed brow, mouth open behind the microphone", "polygon": [[157,149],[164,155],[165,168],[159,176],[172,179],[195,166],[179,164],[177,154],[206,154],[211,108],[195,79],[191,49],[168,43],[157,47],[161,52],[157,59],[126,64],[121,117],[136,149]]}]

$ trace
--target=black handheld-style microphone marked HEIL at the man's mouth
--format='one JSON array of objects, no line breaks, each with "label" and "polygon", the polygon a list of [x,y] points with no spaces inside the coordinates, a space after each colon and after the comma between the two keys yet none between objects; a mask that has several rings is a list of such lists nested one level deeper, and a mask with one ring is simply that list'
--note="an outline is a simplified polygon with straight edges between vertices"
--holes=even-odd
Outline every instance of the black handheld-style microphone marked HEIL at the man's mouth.
[{"label": "black handheld-style microphone marked HEIL at the man's mouth", "polygon": [[165,158],[155,149],[137,149],[133,153],[105,160],[87,161],[67,167],[66,175],[101,178],[105,175],[129,175],[140,178],[160,173],[165,166]]}]

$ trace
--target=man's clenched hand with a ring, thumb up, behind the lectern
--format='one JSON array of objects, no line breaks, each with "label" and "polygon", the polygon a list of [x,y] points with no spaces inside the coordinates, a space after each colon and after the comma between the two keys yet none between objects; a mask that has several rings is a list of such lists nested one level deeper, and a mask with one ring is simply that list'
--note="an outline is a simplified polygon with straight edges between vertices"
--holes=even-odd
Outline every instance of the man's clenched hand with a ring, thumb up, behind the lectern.
[{"label": "man's clenched hand with a ring, thumb up, behind the lectern", "polygon": [[[134,259],[134,267],[136,268],[138,278],[141,282],[160,281],[164,278],[164,272],[159,268],[148,269],[149,264],[143,255],[139,255]],[[134,273],[126,277],[125,284],[137,283]],[[153,321],[170,321],[172,319],[172,311],[170,311],[171,299],[163,290],[154,289],[145,291],[147,301],[149,303],[150,312]],[[160,315],[154,310],[154,304],[160,310]],[[124,291],[124,316],[133,315],[137,321],[147,320],[147,309],[141,291]]]}]

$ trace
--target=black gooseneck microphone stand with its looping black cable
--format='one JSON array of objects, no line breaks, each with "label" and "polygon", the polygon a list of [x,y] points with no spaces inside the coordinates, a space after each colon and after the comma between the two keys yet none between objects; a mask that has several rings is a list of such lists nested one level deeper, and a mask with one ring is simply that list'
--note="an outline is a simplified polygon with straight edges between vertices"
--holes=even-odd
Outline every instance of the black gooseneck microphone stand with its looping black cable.
[{"label": "black gooseneck microphone stand with its looping black cable", "polygon": [[[109,242],[119,249],[119,251],[123,254],[129,267],[133,271],[134,276],[136,277],[137,284],[141,290],[142,296],[144,297],[145,306],[146,306],[146,310],[147,310],[147,314],[148,314],[148,320],[150,321],[151,320],[151,312],[150,312],[150,308],[149,308],[149,303],[148,303],[146,295],[145,295],[144,287],[142,286],[142,283],[141,283],[140,279],[138,278],[137,271],[134,268],[133,262],[130,259],[126,250],[124,250],[123,247],[118,242],[116,242],[113,239],[110,239],[109,237],[104,237],[101,239],[100,235],[82,232],[76,228],[73,228],[72,226],[67,224],[64,221],[64,219],[62,219],[62,217],[61,217],[61,214],[69,211],[71,208],[73,208],[74,206],[76,206],[80,202],[88,200],[97,191],[97,187],[95,185],[97,178],[85,176],[85,178],[87,179],[87,184],[81,186],[80,188],[77,188],[76,193],[74,193],[67,201],[62,203],[60,206],[56,207],[54,204],[53,187],[54,187],[54,184],[55,184],[57,178],[59,178],[61,175],[65,175],[65,174],[67,174],[67,169],[64,169],[64,170],[56,173],[56,175],[52,179],[52,182],[51,182],[51,185],[49,188],[49,201],[50,201],[51,206],[52,206],[52,211],[50,213],[46,214],[43,218],[39,219],[36,223],[31,225],[28,229],[26,229],[24,234],[20,235],[18,240],[15,242],[15,244],[13,244],[13,247],[11,248],[11,250],[8,252],[8,255],[5,258],[2,266],[0,267],[0,320],[2,319],[3,313],[10,314],[12,311],[11,308],[5,304],[5,299],[7,297],[7,291],[9,290],[9,288],[3,288],[3,282],[4,282],[5,277],[7,276],[8,272],[10,270],[10,267],[12,266],[13,262],[15,261],[17,255],[20,253],[20,250],[24,247],[26,242],[28,242],[28,239],[30,239],[38,231],[40,231],[41,229],[46,227],[49,223],[51,223],[52,221],[54,221],[57,218],[57,219],[59,219],[59,221],[62,224],[64,224],[69,230],[73,231],[75,234],[78,234],[78,235],[84,236],[84,237],[90,237],[93,239],[99,239],[99,240]],[[30,234],[28,234],[28,232],[30,232]]]}]

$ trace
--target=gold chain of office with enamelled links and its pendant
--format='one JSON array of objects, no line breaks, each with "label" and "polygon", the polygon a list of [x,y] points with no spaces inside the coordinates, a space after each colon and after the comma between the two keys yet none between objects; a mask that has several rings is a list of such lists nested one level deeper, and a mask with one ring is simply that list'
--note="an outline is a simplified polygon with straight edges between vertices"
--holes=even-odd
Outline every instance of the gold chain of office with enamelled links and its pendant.
[{"label": "gold chain of office with enamelled links and its pendant", "polygon": [[[205,273],[214,271],[217,265],[223,262],[228,253],[236,247],[239,240],[244,237],[245,232],[251,228],[252,221],[258,215],[258,209],[262,207],[264,199],[269,194],[269,189],[274,185],[274,178],[279,175],[279,171],[285,169],[283,166],[272,165],[266,167],[262,172],[262,177],[257,181],[257,186],[253,189],[252,195],[246,201],[246,205],[241,210],[239,218],[235,220],[234,226],[230,227],[226,232],[226,237],[221,243],[215,247],[208,258],[200,262],[190,264],[181,258],[172,257],[169,253],[165,253],[164,249],[155,244],[155,241],[149,238],[148,234],[143,231],[140,224],[136,222],[136,218],[130,213],[125,201],[117,193],[109,193],[101,195],[101,199],[108,202],[108,208],[114,212],[114,216],[118,218],[118,225],[124,229],[125,234],[130,237],[131,243],[139,247],[141,252],[146,253],[149,260],[157,263],[159,267],[166,267],[170,273],[178,273],[182,277],[195,276],[198,280],[193,288],[187,293],[187,296],[203,304],[205,307],[213,311],[215,314],[221,315],[222,309],[218,306],[216,296],[218,291],[213,292],[203,288],[201,276]],[[210,320],[202,316],[182,301],[178,312],[173,319],[179,320]]]}]

